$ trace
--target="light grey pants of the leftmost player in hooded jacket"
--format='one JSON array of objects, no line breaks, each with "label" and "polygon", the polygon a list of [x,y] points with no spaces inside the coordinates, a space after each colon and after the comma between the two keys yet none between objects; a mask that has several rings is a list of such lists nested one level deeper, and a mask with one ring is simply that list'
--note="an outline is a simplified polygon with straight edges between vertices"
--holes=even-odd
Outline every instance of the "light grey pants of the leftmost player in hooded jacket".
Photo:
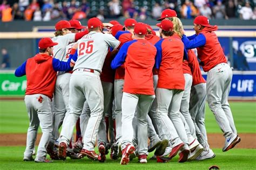
[{"label": "light grey pants of the leftmost player in hooded jacket", "polygon": [[[42,103],[38,101],[40,96],[42,97]],[[26,136],[26,149],[24,152],[24,157],[32,157],[39,125],[43,135],[37,148],[36,158],[46,157],[46,147],[48,146],[52,133],[51,99],[42,94],[35,94],[25,95],[24,101],[26,104],[26,109],[28,110],[30,122]]]}]

